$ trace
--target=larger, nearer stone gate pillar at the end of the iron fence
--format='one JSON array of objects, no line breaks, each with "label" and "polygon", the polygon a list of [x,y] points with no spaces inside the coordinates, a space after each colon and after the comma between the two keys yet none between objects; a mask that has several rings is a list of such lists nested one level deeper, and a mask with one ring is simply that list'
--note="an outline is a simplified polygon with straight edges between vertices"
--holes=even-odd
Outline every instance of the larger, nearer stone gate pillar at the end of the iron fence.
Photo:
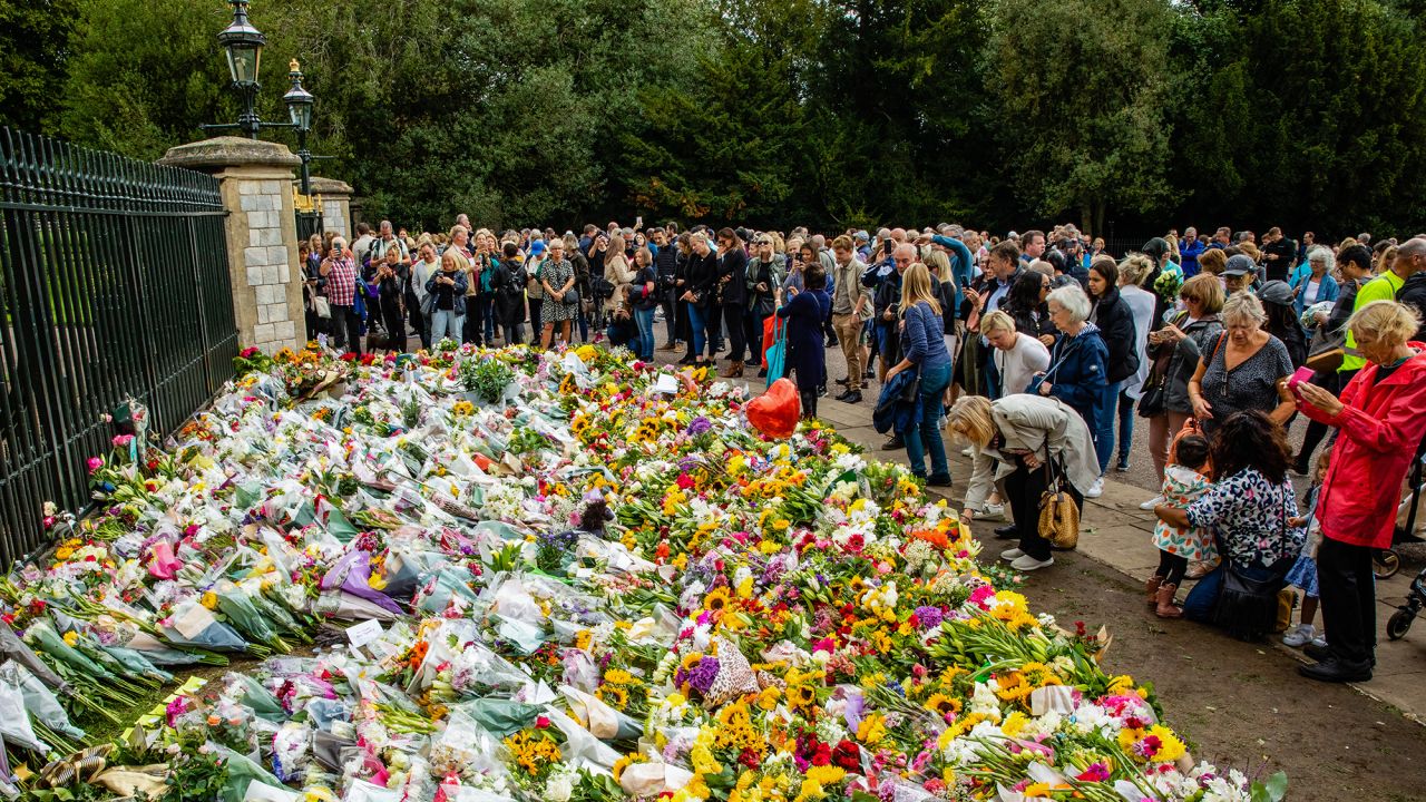
[{"label": "larger, nearer stone gate pillar at the end of the iron fence", "polygon": [[278,143],[215,137],[168,148],[158,163],[218,178],[228,210],[224,228],[238,345],[268,354],[301,348],[307,327],[292,205],[297,156]]}]

